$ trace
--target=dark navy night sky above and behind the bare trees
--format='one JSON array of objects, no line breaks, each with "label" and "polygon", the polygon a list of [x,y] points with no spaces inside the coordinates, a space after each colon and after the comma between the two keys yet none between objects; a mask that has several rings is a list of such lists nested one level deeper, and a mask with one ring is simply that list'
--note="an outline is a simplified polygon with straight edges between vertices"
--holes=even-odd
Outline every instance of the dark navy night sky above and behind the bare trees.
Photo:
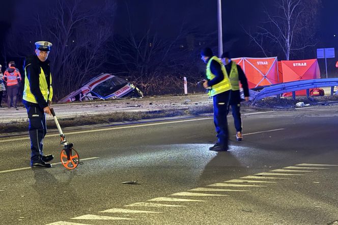
[{"label": "dark navy night sky above and behind the bare trees", "polygon": [[[307,0],[311,1],[311,0]],[[6,32],[13,24],[25,25],[30,17],[39,10],[48,10],[48,1],[43,0],[0,0],[0,49],[3,49]],[[99,4],[94,0],[85,0],[85,4]],[[134,31],[144,32],[151,27],[162,38],[173,38],[183,21],[195,27],[201,33],[217,31],[216,0],[117,0],[117,12],[114,21],[115,34],[125,35],[128,26],[127,6],[131,15]],[[233,52],[233,57],[259,57],[249,46],[249,39],[243,33],[239,23],[254,27],[262,19],[262,4],[271,4],[269,0],[222,1],[223,41],[225,48]],[[338,49],[338,1],[322,0],[318,30],[317,47],[335,47]],[[269,6],[268,6],[269,7]],[[336,37],[334,35],[336,34]],[[215,40],[217,34],[215,33]],[[217,42],[216,42],[217,43]],[[217,48],[217,46],[212,46]],[[316,58],[315,50],[312,58]],[[0,63],[3,63],[2,54]],[[10,55],[7,56],[10,58]]]}]

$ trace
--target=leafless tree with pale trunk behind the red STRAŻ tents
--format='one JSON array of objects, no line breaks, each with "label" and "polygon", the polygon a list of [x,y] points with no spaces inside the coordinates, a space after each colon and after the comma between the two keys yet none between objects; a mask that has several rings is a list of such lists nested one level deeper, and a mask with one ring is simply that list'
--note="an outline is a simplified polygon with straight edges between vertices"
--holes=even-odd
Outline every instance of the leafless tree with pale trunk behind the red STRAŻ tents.
[{"label": "leafless tree with pale trunk behind the red STRA\u017b tents", "polygon": [[321,0],[278,0],[274,11],[264,10],[266,20],[256,32],[244,29],[265,57],[281,53],[286,60],[299,50],[315,46],[318,8]]}]

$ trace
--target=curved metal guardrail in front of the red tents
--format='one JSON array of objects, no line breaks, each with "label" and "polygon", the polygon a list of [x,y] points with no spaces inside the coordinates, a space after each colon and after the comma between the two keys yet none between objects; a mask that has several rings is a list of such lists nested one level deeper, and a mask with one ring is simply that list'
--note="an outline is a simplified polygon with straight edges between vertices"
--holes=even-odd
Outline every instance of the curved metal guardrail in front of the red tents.
[{"label": "curved metal guardrail in front of the red tents", "polygon": [[253,97],[252,105],[262,98],[266,98],[273,95],[280,95],[287,92],[308,90],[311,88],[331,87],[331,95],[333,95],[334,86],[338,86],[338,78],[297,80],[286,83],[280,83],[278,85],[265,87],[260,92],[256,92],[254,96],[251,96]]}]

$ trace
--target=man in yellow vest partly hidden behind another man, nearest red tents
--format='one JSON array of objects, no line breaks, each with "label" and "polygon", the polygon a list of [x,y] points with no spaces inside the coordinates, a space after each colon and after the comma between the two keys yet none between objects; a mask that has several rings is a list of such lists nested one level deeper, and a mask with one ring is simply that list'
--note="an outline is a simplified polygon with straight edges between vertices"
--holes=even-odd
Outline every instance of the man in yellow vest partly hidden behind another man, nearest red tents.
[{"label": "man in yellow vest partly hidden behind another man, nearest red tents", "polygon": [[227,115],[229,113],[231,106],[232,115],[234,117],[234,123],[236,128],[236,139],[239,142],[243,140],[242,119],[240,113],[241,96],[239,91],[240,89],[239,82],[241,82],[243,88],[245,101],[249,101],[249,86],[242,68],[239,65],[237,65],[234,61],[231,61],[229,52],[224,52],[222,54],[221,61],[223,65],[226,67],[227,74],[229,75],[232,87]]}]

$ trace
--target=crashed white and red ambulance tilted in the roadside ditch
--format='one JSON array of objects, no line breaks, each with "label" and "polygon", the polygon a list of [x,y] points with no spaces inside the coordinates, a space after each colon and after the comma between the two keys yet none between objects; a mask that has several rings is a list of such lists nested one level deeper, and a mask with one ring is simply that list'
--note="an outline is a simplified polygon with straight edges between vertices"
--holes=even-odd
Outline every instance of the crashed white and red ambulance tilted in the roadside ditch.
[{"label": "crashed white and red ambulance tilted in the roadside ditch", "polygon": [[127,80],[109,73],[101,73],[59,102],[117,99],[128,94],[143,97],[143,93]]}]

